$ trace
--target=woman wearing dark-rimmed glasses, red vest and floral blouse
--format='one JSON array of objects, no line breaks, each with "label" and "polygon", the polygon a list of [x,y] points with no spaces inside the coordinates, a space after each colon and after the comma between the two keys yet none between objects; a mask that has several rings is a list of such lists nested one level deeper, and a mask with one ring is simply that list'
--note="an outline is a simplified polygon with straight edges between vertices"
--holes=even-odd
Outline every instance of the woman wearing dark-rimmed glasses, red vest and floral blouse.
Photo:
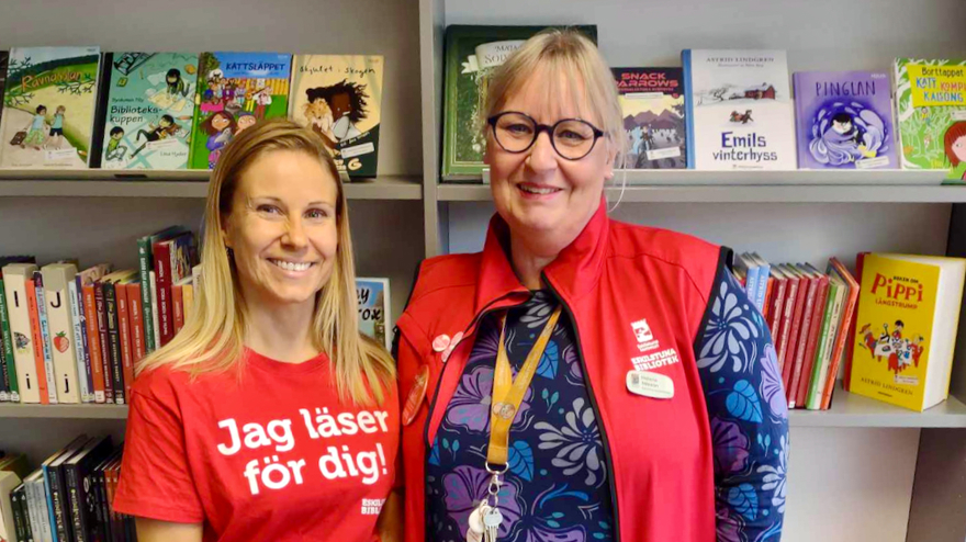
[{"label": "woman wearing dark-rimmed glasses, red vest and floral blouse", "polygon": [[486,103],[493,217],[420,268],[398,321],[406,540],[778,540],[788,424],[730,250],[607,216],[625,140],[573,31]]}]

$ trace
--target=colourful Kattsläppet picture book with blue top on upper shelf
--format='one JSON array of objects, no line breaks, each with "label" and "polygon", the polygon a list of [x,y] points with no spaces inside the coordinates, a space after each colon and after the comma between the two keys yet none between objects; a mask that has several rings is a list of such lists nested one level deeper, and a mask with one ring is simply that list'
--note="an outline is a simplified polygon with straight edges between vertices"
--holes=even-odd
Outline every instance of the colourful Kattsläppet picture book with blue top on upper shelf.
[{"label": "colourful Kattsl\u00e4ppet picture book with blue top on upper shelf", "polygon": [[292,55],[202,53],[199,58],[191,169],[214,169],[235,136],[289,113]]}]

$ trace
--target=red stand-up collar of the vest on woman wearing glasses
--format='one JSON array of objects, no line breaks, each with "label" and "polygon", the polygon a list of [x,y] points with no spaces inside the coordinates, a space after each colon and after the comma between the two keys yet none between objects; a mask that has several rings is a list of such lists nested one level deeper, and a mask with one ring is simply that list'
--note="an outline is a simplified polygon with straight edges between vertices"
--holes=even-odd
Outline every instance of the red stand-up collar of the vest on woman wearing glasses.
[{"label": "red stand-up collar of the vest on woman wearing glasses", "polygon": [[[576,239],[543,269],[550,285],[564,300],[576,300],[597,283],[607,250],[609,230],[607,204],[602,197],[597,212]],[[490,219],[480,263],[480,276],[476,281],[474,307],[476,314],[503,297],[527,293],[526,286],[514,272],[508,249],[505,250],[504,247],[509,247],[509,226],[503,217],[495,214]]]}]

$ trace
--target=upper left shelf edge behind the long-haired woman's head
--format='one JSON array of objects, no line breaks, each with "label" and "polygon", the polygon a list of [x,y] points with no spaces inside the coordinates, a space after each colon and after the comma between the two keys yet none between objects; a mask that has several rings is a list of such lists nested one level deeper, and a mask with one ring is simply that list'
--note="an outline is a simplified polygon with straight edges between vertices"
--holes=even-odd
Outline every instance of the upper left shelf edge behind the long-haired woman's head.
[{"label": "upper left shelf edge behind the long-haired woman's head", "polygon": [[[0,169],[0,197],[205,197],[210,171]],[[416,176],[383,176],[345,183],[350,200],[422,200]]]}]

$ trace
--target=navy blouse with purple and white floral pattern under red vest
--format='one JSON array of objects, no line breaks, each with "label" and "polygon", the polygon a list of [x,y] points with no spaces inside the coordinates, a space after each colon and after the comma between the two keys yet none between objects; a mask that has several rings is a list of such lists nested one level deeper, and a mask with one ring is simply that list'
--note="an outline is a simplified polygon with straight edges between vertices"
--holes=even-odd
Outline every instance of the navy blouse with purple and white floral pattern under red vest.
[{"label": "navy blouse with purple and white floral pattern under red vest", "polygon": [[[695,357],[715,455],[719,542],[777,541],[785,512],[788,411],[777,357],[761,315],[731,273],[710,300]],[[514,375],[557,300],[548,291],[510,309],[506,351]],[[446,407],[427,464],[428,537],[465,541],[474,496],[486,487],[490,399],[499,321],[486,317]],[[764,352],[764,355],[760,354]],[[614,539],[614,503],[597,418],[581,371],[573,323],[561,315],[510,430],[499,492],[507,542]],[[756,364],[755,360],[766,362]],[[757,365],[757,366],[755,366]]]}]

